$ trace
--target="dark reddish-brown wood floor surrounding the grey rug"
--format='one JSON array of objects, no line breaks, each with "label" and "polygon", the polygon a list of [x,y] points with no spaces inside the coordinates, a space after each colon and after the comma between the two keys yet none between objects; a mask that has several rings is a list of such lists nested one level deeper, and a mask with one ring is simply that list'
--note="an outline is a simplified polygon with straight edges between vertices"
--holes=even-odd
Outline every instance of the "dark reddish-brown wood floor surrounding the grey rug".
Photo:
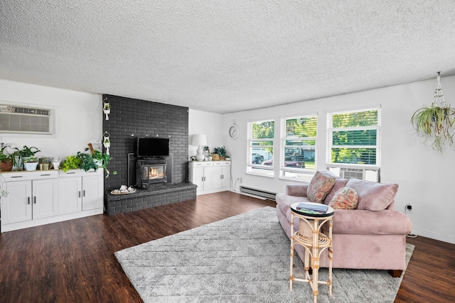
[{"label": "dark reddish-brown wood floor surrounding the grey rug", "polygon": [[[275,202],[232,192],[0,235],[0,302],[141,302],[114,252]],[[455,302],[455,245],[416,246],[395,302]]]}]

